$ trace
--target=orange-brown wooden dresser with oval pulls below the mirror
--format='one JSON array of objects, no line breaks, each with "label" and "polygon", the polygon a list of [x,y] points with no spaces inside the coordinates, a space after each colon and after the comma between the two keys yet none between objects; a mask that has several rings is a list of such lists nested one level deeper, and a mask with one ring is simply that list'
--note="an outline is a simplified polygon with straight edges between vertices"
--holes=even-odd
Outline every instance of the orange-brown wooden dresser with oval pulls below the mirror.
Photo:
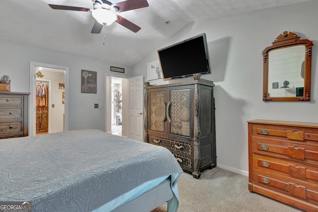
[{"label": "orange-brown wooden dresser with oval pulls below the mirror", "polygon": [[248,190],[318,211],[318,124],[248,121]]}]

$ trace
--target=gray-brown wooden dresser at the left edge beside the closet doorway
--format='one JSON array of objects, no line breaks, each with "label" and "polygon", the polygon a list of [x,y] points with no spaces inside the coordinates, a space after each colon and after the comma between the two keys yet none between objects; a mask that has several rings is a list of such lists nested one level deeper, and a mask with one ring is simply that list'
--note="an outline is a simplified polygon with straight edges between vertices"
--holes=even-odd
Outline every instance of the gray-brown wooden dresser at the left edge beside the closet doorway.
[{"label": "gray-brown wooden dresser at the left edge beside the closet doorway", "polygon": [[0,139],[28,136],[29,94],[0,92]]}]

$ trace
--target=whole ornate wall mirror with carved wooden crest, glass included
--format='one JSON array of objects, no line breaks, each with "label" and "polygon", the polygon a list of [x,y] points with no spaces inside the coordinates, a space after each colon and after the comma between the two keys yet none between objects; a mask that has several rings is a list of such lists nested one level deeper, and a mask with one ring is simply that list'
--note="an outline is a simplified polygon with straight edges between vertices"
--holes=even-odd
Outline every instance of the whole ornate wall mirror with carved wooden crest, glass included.
[{"label": "whole ornate wall mirror with carved wooden crest, glass included", "polygon": [[313,42],[285,31],[272,44],[263,51],[263,101],[310,101]]}]

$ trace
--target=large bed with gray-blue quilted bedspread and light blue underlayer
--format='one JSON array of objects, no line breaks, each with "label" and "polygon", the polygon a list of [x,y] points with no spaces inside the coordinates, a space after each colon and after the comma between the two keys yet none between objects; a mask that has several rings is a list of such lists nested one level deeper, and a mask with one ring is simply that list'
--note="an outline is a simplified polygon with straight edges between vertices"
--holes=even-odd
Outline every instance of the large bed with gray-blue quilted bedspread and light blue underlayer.
[{"label": "large bed with gray-blue quilted bedspread and light blue underlayer", "polygon": [[178,209],[182,169],[160,146],[99,130],[0,140],[0,202],[32,212]]}]

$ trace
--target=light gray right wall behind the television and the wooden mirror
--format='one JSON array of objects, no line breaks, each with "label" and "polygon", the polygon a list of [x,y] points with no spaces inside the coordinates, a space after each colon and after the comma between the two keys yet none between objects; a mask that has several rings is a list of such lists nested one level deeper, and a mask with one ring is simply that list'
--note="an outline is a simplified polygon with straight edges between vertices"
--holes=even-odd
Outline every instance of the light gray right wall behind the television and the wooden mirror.
[{"label": "light gray right wall behind the television and the wooden mirror", "polygon": [[[318,122],[318,1],[198,21],[185,26],[158,49],[205,32],[215,82],[218,166],[247,175],[247,124],[253,119]],[[284,31],[314,42],[311,102],[262,101],[262,51]],[[158,60],[157,50],[135,64],[133,75],[145,75],[147,63]],[[151,83],[167,83],[152,80]],[[172,82],[172,81],[170,81]],[[174,80],[173,80],[174,82]]]}]

